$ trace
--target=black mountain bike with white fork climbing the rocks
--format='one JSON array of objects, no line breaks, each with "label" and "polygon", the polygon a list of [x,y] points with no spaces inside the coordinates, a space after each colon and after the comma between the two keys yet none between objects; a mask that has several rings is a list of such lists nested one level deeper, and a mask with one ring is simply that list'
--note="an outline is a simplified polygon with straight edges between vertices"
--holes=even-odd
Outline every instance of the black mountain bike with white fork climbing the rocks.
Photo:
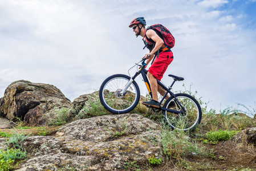
[{"label": "black mountain bike with white fork climbing the rocks", "polygon": [[[105,109],[116,114],[131,112],[137,106],[139,100],[142,99],[139,86],[135,82],[135,78],[140,74],[152,98],[150,83],[147,78],[148,71],[145,69],[145,60],[141,60],[141,64],[139,64],[140,62],[135,64],[137,66],[137,72],[132,77],[116,74],[104,80],[100,86],[99,97]],[[160,100],[160,107],[153,109],[155,112],[162,112],[166,124],[172,129],[193,131],[201,121],[202,110],[200,104],[193,96],[186,93],[174,94],[171,91],[173,84],[177,81],[184,80],[184,78],[175,75],[168,76],[173,78],[173,82],[168,88],[157,80],[158,85],[164,88],[166,93]],[[168,100],[165,100],[168,93],[170,97]]]}]

